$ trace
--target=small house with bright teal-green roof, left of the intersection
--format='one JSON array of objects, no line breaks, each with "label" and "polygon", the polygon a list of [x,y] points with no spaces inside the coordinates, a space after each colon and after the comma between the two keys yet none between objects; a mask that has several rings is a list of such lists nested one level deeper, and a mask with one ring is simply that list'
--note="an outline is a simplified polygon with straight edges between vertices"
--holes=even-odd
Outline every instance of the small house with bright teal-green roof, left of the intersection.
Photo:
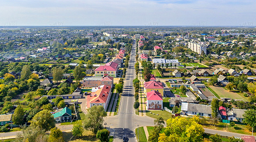
[{"label": "small house with bright teal-green roof, left of the intersection", "polygon": [[62,108],[61,110],[55,111],[52,116],[56,123],[70,122],[72,116],[71,109],[67,107]]}]

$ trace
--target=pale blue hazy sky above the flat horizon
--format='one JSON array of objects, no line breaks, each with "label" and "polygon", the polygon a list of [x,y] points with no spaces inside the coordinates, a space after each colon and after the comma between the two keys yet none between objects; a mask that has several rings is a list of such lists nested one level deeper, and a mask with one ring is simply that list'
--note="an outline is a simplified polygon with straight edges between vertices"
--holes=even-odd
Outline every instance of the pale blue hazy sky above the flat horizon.
[{"label": "pale blue hazy sky above the flat horizon", "polygon": [[255,0],[0,0],[0,26],[255,26]]}]

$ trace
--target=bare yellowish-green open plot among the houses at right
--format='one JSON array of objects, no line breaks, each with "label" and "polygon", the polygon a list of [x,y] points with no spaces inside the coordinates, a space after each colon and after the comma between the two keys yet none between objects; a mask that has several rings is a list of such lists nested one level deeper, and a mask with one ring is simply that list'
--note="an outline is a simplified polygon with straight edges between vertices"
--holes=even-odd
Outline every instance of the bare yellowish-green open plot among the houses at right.
[{"label": "bare yellowish-green open plot among the houses at right", "polygon": [[231,98],[231,99],[240,99],[244,101],[248,101],[247,97],[244,97],[242,94],[238,94],[235,92],[229,92],[222,87],[218,86],[209,86],[212,90],[217,93],[221,98]]}]

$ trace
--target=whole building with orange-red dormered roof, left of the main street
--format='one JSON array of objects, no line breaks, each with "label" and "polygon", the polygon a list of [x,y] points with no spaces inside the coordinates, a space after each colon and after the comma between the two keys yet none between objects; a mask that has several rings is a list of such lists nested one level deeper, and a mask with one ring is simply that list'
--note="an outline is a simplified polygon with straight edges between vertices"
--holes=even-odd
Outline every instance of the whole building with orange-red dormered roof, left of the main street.
[{"label": "whole building with orange-red dormered roof, left of the main street", "polygon": [[97,88],[95,92],[87,96],[87,108],[92,106],[103,106],[106,110],[109,102],[109,95],[111,93],[111,86],[102,85]]}]

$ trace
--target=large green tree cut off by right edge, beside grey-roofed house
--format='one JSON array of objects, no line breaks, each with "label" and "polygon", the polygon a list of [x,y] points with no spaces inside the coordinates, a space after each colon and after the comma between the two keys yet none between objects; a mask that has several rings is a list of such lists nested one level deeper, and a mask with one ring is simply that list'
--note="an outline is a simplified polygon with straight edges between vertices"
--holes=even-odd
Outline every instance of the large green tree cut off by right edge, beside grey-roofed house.
[{"label": "large green tree cut off by right edge, beside grey-roofed house", "polygon": [[256,110],[255,109],[248,109],[244,113],[244,120],[243,123],[246,123],[253,127],[256,130]]}]

